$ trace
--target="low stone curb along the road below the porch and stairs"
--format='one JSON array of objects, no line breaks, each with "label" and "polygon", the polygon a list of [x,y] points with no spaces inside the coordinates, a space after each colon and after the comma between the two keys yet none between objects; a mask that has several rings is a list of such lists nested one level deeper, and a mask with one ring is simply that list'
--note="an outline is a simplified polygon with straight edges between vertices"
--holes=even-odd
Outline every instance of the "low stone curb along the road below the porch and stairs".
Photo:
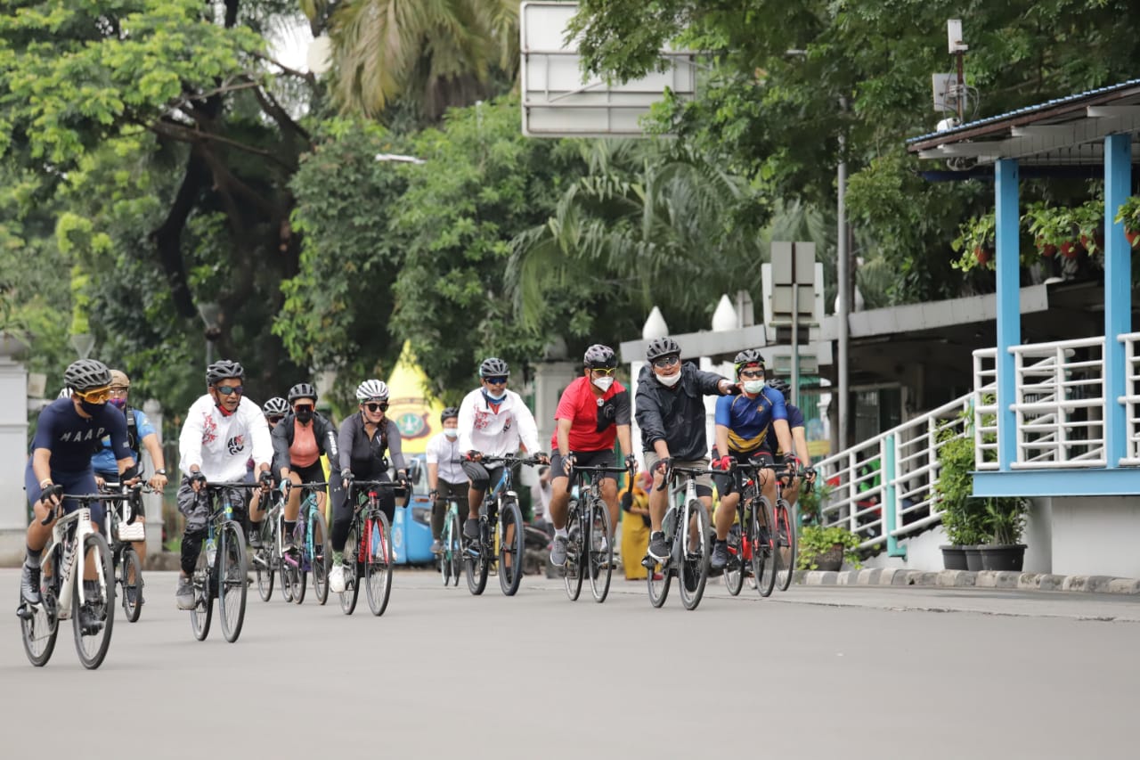
[{"label": "low stone curb along the road below the porch and stairs", "polygon": [[858,571],[796,571],[804,585],[925,585],[940,588],[1011,589],[1140,595],[1140,579],[1112,575],[1052,575],[1005,571],[910,571],[895,567]]}]

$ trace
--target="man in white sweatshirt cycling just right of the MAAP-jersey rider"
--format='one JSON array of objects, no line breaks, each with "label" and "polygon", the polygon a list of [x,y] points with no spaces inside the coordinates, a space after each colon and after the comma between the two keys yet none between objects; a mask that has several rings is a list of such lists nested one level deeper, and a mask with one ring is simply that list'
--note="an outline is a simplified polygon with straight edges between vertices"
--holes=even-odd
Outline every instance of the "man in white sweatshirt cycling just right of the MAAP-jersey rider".
[{"label": "man in white sweatshirt cycling just right of the MAAP-jersey rider", "polygon": [[[182,533],[182,572],[178,577],[174,601],[179,609],[194,609],[190,575],[202,551],[210,519],[210,501],[202,494],[207,480],[244,480],[246,462],[253,456],[262,488],[272,485],[270,463],[274,444],[261,409],[244,396],[245,370],[237,362],[221,359],[206,367],[206,395],[190,405],[178,437],[182,483],[178,488],[178,510],[186,516]],[[245,491],[235,490],[230,503],[245,510]]]}]

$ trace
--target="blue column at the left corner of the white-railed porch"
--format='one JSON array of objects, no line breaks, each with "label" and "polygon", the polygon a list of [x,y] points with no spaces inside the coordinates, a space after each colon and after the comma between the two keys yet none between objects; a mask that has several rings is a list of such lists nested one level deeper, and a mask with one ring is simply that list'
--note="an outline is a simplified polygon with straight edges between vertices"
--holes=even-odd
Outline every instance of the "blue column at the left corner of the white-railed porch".
[{"label": "blue column at the left corner of the white-railed porch", "polygon": [[1013,159],[994,165],[995,236],[997,238],[997,467],[1010,469],[1017,461],[1017,378],[1010,346],[1021,343],[1021,283],[1018,246],[1018,170]]}]

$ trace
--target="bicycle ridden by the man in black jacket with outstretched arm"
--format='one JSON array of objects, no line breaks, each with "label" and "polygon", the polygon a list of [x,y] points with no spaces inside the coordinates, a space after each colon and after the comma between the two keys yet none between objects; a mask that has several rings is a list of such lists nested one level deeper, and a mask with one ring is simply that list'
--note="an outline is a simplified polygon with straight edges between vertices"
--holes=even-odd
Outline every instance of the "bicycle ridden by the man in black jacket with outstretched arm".
[{"label": "bicycle ridden by the man in black jacket with outstretched arm", "polygon": [[642,560],[649,583],[649,599],[654,607],[665,605],[669,585],[676,575],[681,584],[681,603],[685,609],[697,609],[709,577],[709,511],[697,498],[697,478],[708,475],[705,468],[670,464],[658,490],[663,490],[676,476],[684,478],[679,498],[673,500],[661,520],[669,557],[657,561],[646,555]]}]

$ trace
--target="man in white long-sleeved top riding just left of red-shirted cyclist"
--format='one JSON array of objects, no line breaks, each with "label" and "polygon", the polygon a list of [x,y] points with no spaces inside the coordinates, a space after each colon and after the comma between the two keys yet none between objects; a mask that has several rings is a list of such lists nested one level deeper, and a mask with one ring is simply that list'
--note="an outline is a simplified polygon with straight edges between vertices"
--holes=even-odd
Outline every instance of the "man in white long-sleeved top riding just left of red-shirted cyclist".
[{"label": "man in white long-sleeved top riding just left of red-shirted cyclist", "polygon": [[467,522],[463,535],[479,537],[479,506],[488,485],[498,482],[503,466],[488,469],[480,460],[523,451],[540,460],[546,459],[538,448],[538,426],[535,415],[522,397],[506,389],[511,370],[500,358],[488,358],[479,365],[480,387],[467,394],[459,404],[459,451],[465,454],[463,471],[471,485],[467,487]]}]

